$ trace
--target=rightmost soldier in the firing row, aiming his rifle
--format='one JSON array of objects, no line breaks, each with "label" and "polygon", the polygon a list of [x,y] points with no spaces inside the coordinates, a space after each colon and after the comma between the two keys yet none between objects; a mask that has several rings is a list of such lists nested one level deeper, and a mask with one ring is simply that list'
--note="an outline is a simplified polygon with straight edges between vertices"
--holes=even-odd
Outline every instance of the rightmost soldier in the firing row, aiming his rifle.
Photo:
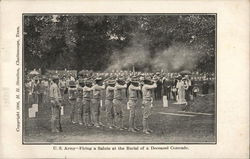
[{"label": "rightmost soldier in the firing row, aiming his rifle", "polygon": [[156,81],[151,81],[150,77],[146,77],[144,80],[144,85],[142,87],[142,107],[143,107],[143,119],[142,119],[142,125],[143,125],[143,133],[150,134],[152,130],[149,129],[148,125],[148,117],[151,114],[151,98],[152,98],[152,90],[157,87]]}]

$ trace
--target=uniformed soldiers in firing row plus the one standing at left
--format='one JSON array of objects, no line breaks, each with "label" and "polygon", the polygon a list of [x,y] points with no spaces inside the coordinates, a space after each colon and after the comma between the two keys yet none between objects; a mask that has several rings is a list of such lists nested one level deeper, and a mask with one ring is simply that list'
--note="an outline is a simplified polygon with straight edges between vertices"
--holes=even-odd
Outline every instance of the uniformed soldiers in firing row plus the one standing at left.
[{"label": "uniformed soldiers in firing row plus the one standing at left", "polygon": [[[62,131],[60,109],[62,105],[62,91],[59,87],[59,77],[53,76],[50,87],[51,100],[51,130],[52,132]],[[101,127],[104,126],[100,121],[101,91],[106,91],[106,126],[110,129],[125,130],[124,126],[124,94],[122,91],[127,88],[128,82],[124,77],[109,78],[105,81],[97,77],[94,80],[89,78],[70,80],[68,83],[68,101],[71,106],[70,120],[73,124]],[[135,109],[137,107],[138,90],[142,91],[142,112],[143,119],[142,132],[152,133],[149,128],[148,118],[151,113],[152,91],[157,87],[156,80],[146,76],[143,81],[133,76],[128,86],[127,107],[129,113],[129,131],[137,132],[139,129],[135,125]],[[77,121],[78,120],[78,121]]]}]

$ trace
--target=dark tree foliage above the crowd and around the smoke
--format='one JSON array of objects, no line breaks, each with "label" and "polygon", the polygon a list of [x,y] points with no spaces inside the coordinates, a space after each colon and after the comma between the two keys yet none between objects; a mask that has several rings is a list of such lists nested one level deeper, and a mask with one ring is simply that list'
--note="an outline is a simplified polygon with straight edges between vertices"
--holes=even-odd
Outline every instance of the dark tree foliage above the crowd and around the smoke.
[{"label": "dark tree foliage above the crowd and around the smoke", "polygon": [[214,72],[214,15],[26,15],[27,69],[103,71],[115,52],[135,43],[158,52],[181,43],[197,50],[194,70]]}]

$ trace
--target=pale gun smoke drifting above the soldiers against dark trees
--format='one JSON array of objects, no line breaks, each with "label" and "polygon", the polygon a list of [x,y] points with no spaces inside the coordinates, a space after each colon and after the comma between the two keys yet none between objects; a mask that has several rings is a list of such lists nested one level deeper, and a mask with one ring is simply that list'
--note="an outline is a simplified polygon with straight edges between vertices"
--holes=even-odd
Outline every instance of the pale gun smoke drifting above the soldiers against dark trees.
[{"label": "pale gun smoke drifting above the soldiers against dark trees", "polygon": [[[146,39],[146,38],[145,38]],[[122,52],[113,52],[111,64],[107,71],[132,70],[136,71],[160,71],[175,72],[181,70],[192,70],[204,54],[194,44],[175,43],[167,49],[150,55],[147,40],[133,40],[133,44]],[[138,70],[139,68],[140,70]]]}]

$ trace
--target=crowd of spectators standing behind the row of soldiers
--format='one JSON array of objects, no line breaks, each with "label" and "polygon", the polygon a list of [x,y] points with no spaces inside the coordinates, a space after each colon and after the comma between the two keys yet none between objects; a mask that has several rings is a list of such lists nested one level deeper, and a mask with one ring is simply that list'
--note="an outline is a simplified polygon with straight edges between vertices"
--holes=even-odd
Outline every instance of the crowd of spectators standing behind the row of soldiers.
[{"label": "crowd of spectators standing behind the row of soldiers", "polygon": [[[49,73],[48,73],[49,72]],[[57,74],[60,77],[59,87],[62,94],[67,94],[67,87],[70,80],[77,81],[81,78],[102,77],[103,80],[110,77],[123,76],[127,81],[132,76],[137,76],[141,80],[145,76],[155,77],[157,88],[153,91],[154,100],[161,100],[163,96],[167,96],[168,100],[177,101],[178,83],[181,81],[189,82],[190,86],[186,90],[186,99],[195,98],[198,93],[208,94],[214,92],[215,75],[214,73],[199,73],[182,71],[179,73],[163,73],[163,72],[133,72],[133,71],[113,71],[113,72],[93,72],[83,70],[77,73],[72,70],[48,71],[44,75],[39,71],[33,70],[25,76],[25,101],[28,105],[32,103],[43,104],[49,100],[49,87],[52,83],[52,75]],[[129,86],[129,85],[128,85]],[[127,87],[128,88],[128,87]],[[105,94],[105,91],[103,91]],[[127,89],[124,92],[128,96]],[[190,96],[191,95],[191,96]],[[141,92],[138,91],[138,97],[141,98]],[[103,95],[105,98],[105,95]]]}]

